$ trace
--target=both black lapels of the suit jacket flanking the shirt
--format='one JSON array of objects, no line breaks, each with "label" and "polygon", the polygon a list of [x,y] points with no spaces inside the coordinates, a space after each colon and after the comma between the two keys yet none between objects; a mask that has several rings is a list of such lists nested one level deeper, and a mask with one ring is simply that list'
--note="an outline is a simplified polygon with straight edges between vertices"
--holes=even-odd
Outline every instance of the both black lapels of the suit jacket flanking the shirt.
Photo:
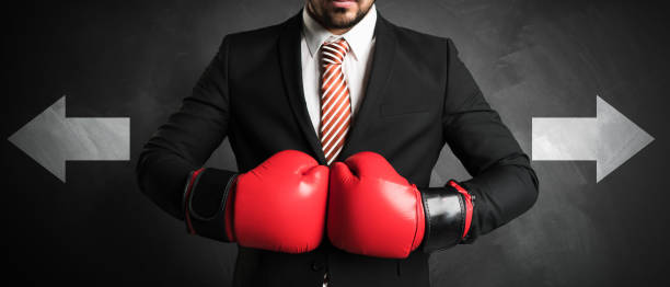
[{"label": "both black lapels of the suit jacket flanking the shirt", "polygon": [[[302,9],[286,22],[279,36],[279,61],[281,73],[286,85],[286,94],[293,110],[300,129],[303,131],[310,147],[316,154],[316,160],[325,164],[326,159],[323,148],[310,120],[310,115],[304,101],[302,87],[302,66],[300,60],[300,33],[302,28]],[[374,51],[370,77],[366,87],[363,97],[357,114],[354,116],[349,133],[345,139],[343,150],[337,160],[344,160],[357,152],[356,145],[365,138],[365,129],[370,120],[378,114],[379,100],[383,96],[383,88],[386,85],[389,74],[393,68],[395,58],[396,38],[391,30],[391,24],[381,16],[378,11],[374,24]]]}]

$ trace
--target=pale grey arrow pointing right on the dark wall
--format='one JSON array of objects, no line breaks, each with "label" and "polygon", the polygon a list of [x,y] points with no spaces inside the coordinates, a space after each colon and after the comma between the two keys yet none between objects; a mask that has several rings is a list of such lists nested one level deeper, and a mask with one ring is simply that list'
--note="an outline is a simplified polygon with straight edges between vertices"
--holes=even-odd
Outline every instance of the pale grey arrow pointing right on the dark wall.
[{"label": "pale grey arrow pointing right on the dark wall", "polygon": [[596,117],[533,117],[533,160],[594,160],[600,182],[654,140],[596,96]]}]

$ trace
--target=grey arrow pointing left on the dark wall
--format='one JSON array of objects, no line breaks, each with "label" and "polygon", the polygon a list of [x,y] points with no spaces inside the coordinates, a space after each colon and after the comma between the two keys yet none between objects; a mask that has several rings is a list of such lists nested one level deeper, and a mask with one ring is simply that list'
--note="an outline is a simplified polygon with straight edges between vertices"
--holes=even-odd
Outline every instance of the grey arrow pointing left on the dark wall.
[{"label": "grey arrow pointing left on the dark wall", "polygon": [[130,118],[66,117],[66,96],[9,137],[62,182],[68,160],[130,160]]}]

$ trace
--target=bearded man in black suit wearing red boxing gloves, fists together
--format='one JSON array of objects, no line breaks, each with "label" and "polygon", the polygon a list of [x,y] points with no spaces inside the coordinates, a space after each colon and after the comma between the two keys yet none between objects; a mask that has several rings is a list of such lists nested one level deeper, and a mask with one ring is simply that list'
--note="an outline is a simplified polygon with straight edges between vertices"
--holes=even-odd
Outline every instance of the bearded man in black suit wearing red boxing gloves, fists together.
[{"label": "bearded man in black suit wearing red boxing gloves, fists together", "polygon": [[[226,137],[239,171],[201,168]],[[472,179],[429,187],[443,145]],[[451,39],[390,23],[373,0],[308,0],[226,35],[137,173],[188,232],[238,242],[235,286],[429,286],[431,252],[538,197]]]}]

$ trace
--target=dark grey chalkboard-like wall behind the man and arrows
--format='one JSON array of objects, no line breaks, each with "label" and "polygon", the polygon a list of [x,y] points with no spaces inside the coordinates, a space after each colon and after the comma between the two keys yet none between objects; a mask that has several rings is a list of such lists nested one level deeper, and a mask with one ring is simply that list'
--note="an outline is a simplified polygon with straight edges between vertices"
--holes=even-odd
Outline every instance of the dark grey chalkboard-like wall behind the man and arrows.
[{"label": "dark grey chalkboard-like wall behind the man and arrows", "polygon": [[[68,116],[131,118],[131,161],[69,162],[61,183],[4,140],[4,279],[227,286],[235,246],[187,236],[139,193],[141,145],[177,108],[226,33],[302,1],[43,1],[5,7],[2,135],[61,95]],[[656,138],[596,184],[594,162],[534,162],[536,205],[431,257],[434,286],[636,286],[667,280],[670,10],[661,1],[378,1],[392,22],[452,37],[531,152],[533,116],[588,116],[599,94]],[[228,144],[211,165],[235,169]],[[466,179],[444,149],[431,183]],[[666,283],[667,284],[667,283]],[[659,284],[661,285],[661,284]]]}]

